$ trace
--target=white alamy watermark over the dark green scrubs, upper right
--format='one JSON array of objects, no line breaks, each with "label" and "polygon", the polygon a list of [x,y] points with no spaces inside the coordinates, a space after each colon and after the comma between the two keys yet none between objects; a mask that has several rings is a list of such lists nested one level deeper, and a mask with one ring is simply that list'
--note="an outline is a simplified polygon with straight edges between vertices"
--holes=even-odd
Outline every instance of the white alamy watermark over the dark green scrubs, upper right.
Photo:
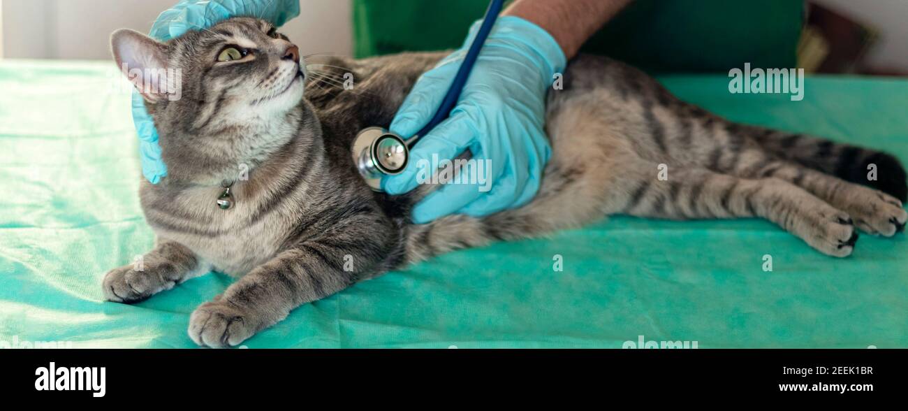
[{"label": "white alamy watermark over the dark green scrubs, upper right", "polygon": [[803,68],[750,68],[744,64],[744,70],[733,68],[728,71],[731,81],[728,92],[735,95],[744,94],[785,94],[791,95],[792,101],[804,100]]}]

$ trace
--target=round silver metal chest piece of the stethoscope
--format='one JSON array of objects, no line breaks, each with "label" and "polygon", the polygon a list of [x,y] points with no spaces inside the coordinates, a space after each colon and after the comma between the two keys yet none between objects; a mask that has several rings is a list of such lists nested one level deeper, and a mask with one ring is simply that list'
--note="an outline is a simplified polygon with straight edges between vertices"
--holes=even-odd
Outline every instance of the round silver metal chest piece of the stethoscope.
[{"label": "round silver metal chest piece of the stethoscope", "polygon": [[360,131],[353,140],[353,163],[372,190],[381,190],[382,175],[399,175],[407,168],[410,149],[400,135],[381,127]]}]

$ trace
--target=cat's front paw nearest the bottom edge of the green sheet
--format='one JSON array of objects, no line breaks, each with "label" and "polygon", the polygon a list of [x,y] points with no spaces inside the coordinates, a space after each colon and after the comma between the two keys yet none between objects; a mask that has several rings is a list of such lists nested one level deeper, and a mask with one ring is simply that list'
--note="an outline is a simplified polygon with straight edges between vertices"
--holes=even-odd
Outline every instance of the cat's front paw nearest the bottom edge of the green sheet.
[{"label": "cat's front paw nearest the bottom edge of the green sheet", "polygon": [[239,346],[254,334],[251,317],[222,301],[202,304],[189,317],[189,337],[199,346]]}]

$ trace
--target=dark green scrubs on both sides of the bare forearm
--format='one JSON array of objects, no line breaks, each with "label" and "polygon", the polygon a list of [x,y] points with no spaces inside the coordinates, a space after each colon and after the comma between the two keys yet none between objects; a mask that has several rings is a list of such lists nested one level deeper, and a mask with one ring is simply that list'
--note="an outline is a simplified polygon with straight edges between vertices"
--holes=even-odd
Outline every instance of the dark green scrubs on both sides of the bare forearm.
[{"label": "dark green scrubs on both sides of the bare forearm", "polygon": [[[359,57],[459,47],[487,0],[353,0]],[[798,0],[638,0],[583,51],[652,73],[794,67],[803,23]]]}]

